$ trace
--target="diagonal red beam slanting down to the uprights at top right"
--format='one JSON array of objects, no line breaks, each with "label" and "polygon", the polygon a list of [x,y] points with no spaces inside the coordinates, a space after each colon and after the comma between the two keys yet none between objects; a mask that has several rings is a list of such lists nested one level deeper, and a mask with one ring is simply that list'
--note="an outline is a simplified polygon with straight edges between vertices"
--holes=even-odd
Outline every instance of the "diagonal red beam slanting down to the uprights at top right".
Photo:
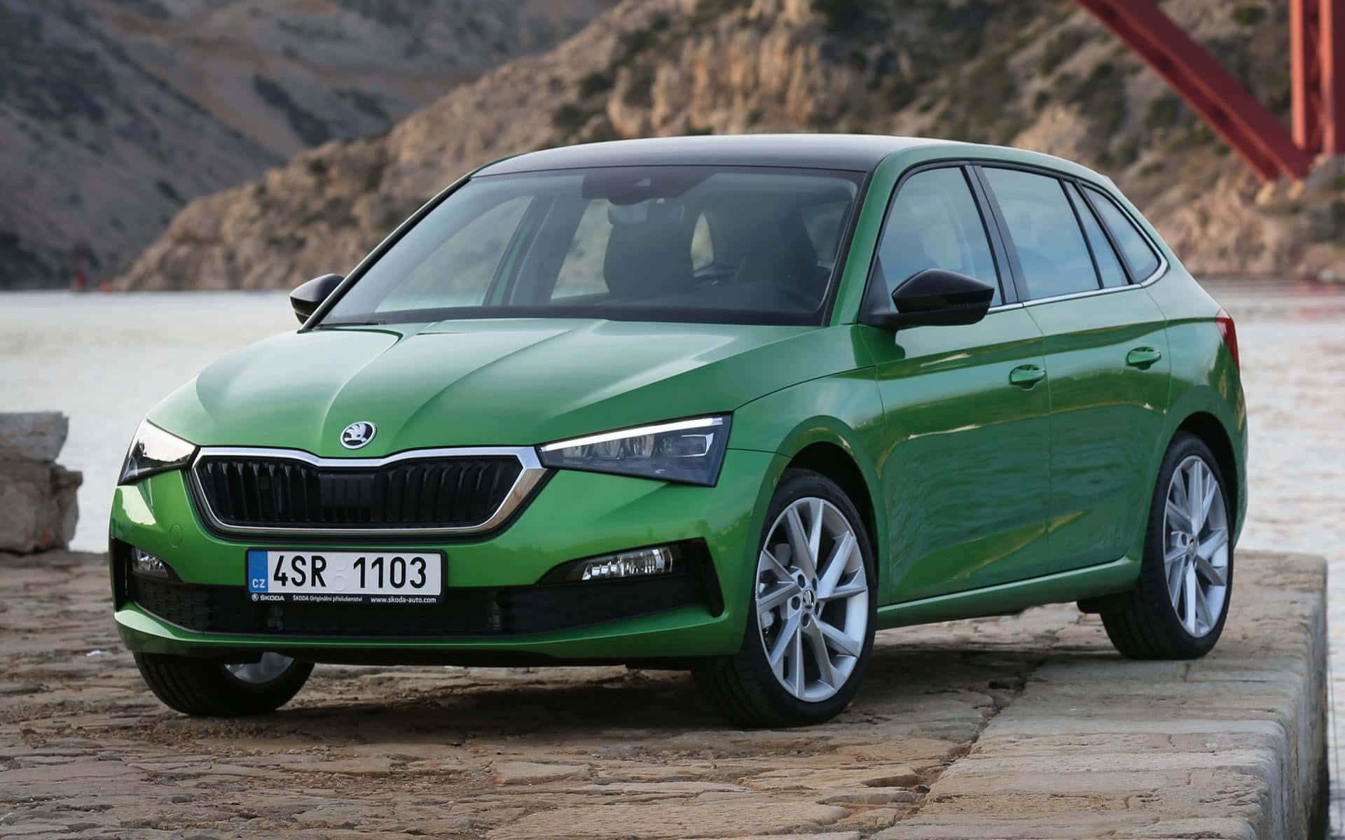
[{"label": "diagonal red beam slanting down to the uprights at top right", "polygon": [[1289,130],[1150,0],[1076,3],[1134,50],[1262,179],[1307,175],[1311,156]]}]

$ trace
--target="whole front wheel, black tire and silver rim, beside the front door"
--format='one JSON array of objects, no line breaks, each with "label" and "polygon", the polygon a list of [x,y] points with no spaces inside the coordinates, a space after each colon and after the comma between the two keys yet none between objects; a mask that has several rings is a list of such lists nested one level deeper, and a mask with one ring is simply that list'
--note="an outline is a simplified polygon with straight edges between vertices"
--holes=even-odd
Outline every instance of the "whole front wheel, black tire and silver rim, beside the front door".
[{"label": "whole front wheel, black tire and silver rim, beside the front door", "polygon": [[[798,515],[798,531],[791,528],[791,512]],[[798,540],[790,534],[811,543],[819,517],[816,554],[822,562],[810,577],[808,563],[800,564],[795,556]],[[738,726],[830,720],[854,698],[873,653],[877,577],[863,519],[835,481],[810,470],[785,470],[771,497],[756,556],[742,648],[707,660],[697,668],[697,677]],[[831,569],[838,571],[827,575]],[[802,587],[800,573],[806,579]],[[771,650],[777,653],[775,667]],[[820,656],[827,659],[827,675]]]}]

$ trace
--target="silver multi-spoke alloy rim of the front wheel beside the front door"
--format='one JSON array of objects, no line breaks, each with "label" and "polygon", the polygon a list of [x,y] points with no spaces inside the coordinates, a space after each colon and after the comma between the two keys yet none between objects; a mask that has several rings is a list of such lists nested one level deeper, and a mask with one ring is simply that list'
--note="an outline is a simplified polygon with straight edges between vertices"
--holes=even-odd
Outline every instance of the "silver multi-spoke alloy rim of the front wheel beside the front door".
[{"label": "silver multi-spoke alloy rim of the front wheel beside the front door", "polygon": [[859,538],[824,499],[799,499],[767,532],[757,559],[757,628],[776,680],[800,700],[845,685],[869,629]]}]

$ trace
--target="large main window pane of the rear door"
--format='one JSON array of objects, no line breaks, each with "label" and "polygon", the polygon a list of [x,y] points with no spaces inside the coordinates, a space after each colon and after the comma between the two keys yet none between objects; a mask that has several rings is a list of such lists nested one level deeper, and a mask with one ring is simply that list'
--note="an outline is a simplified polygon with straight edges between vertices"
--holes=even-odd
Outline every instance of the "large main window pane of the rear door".
[{"label": "large main window pane of the rear door", "polygon": [[1021,169],[986,168],[1018,251],[1032,300],[1099,288],[1092,257],[1061,183]]}]

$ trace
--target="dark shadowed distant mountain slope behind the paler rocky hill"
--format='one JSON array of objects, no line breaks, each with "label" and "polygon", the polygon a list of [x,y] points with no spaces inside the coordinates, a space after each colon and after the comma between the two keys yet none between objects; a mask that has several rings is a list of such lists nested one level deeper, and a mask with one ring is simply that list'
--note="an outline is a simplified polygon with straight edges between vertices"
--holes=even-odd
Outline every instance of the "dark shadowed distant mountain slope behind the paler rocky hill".
[{"label": "dark shadowed distant mountain slope behind the paler rocky hill", "polygon": [[615,0],[0,0],[0,288],[553,47]]}]

